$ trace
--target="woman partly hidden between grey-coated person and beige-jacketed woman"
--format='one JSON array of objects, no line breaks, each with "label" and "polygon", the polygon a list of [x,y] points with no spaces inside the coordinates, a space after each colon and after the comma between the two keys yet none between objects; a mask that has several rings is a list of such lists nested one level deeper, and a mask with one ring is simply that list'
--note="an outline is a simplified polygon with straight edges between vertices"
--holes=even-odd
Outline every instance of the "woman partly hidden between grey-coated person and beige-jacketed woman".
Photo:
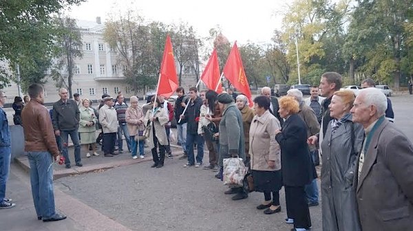
[{"label": "woman partly hidden between grey-coated person and beige-jacketed woman", "polygon": [[245,139],[245,155],[246,163],[250,161],[249,155],[249,129],[254,118],[254,111],[249,107],[248,98],[244,95],[237,96],[237,108],[240,109],[242,115],[242,127],[244,128]]}]

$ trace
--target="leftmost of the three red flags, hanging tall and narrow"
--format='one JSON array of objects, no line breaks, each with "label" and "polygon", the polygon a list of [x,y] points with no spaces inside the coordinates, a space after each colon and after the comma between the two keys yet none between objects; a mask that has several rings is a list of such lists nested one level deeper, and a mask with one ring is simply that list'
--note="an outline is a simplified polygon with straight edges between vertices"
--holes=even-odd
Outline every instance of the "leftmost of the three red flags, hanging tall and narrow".
[{"label": "leftmost of the three red flags, hanging tall and narrow", "polygon": [[167,35],[165,41],[165,50],[160,64],[160,74],[158,80],[158,90],[156,94],[169,98],[178,88],[178,76],[176,76],[175,59],[173,58],[173,50],[171,37]]}]

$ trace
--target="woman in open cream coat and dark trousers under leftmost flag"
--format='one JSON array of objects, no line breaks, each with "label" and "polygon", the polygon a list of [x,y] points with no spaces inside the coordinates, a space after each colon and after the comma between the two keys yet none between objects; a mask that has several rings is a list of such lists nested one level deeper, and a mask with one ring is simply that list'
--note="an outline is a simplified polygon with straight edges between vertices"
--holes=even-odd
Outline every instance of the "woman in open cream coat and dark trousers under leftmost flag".
[{"label": "woman in open cream coat and dark trousers under leftmost flag", "polygon": [[[165,124],[169,122],[169,117],[164,109],[162,109],[162,104],[159,98],[156,98],[156,103],[154,103],[155,97],[152,97],[151,102],[153,104],[153,109],[149,109],[143,120],[146,124],[147,129],[149,129],[149,147],[152,151],[152,157],[154,164],[152,168],[162,168],[165,160],[165,146],[168,145],[167,131],[165,130]],[[156,149],[159,147],[159,156]]]}]

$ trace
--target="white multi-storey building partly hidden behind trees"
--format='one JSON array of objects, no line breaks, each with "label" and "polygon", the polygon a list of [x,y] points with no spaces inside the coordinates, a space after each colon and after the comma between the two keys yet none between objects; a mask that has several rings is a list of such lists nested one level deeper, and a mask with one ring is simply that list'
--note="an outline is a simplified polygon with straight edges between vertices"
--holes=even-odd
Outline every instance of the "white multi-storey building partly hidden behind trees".
[{"label": "white multi-storey building partly hidden behind trees", "polygon": [[[72,80],[72,94],[78,93],[81,98],[99,100],[103,94],[112,97],[122,91],[126,98],[134,94],[125,83],[123,67],[118,65],[116,52],[110,49],[103,40],[105,25],[100,22],[100,17],[96,21],[76,20],[81,28],[83,40],[83,57],[77,58]],[[160,65],[160,64],[159,64]],[[179,74],[179,65],[176,65]],[[196,85],[195,73],[191,67],[184,66],[182,72],[182,87],[188,89]],[[59,100],[56,83],[52,78],[47,78],[45,84],[45,102],[55,102]],[[7,102],[13,102],[14,96],[19,96],[16,83],[10,83],[3,91],[8,96]],[[24,93],[23,93],[24,94]],[[138,91],[138,97],[142,97],[142,91]]]}]

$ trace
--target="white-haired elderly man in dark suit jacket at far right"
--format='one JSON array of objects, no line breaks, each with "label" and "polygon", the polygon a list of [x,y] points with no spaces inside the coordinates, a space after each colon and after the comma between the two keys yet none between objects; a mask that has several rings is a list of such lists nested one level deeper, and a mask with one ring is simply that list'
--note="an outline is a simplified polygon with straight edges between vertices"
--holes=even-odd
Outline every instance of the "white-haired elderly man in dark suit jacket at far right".
[{"label": "white-haired elderly man in dark suit jacket at far right", "polygon": [[385,120],[385,95],[376,88],[359,91],[352,120],[363,125],[366,138],[354,184],[362,230],[412,230],[413,144]]}]

